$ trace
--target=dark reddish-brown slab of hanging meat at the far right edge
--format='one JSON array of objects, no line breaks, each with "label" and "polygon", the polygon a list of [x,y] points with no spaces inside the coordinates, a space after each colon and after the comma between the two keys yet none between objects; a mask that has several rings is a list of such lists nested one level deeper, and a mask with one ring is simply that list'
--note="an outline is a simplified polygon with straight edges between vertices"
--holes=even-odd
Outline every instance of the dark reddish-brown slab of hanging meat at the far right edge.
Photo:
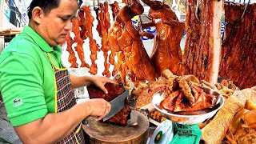
[{"label": "dark reddish-brown slab of hanging meat at the far right edge", "polygon": [[240,89],[255,86],[256,4],[225,2],[225,21],[219,75]]}]

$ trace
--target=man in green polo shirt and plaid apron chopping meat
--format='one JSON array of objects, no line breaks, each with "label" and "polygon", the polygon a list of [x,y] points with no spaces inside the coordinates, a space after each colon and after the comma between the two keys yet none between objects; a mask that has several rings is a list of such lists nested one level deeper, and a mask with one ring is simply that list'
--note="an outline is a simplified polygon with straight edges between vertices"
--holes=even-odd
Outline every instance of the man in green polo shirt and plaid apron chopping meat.
[{"label": "man in green polo shirt and plaid apron chopping meat", "polygon": [[83,143],[82,120],[89,115],[102,119],[110,111],[104,99],[75,104],[70,88],[94,83],[107,93],[104,85],[113,81],[68,74],[61,62],[58,44],[65,41],[77,10],[77,0],[33,0],[29,26],[0,55],[3,102],[24,143]]}]

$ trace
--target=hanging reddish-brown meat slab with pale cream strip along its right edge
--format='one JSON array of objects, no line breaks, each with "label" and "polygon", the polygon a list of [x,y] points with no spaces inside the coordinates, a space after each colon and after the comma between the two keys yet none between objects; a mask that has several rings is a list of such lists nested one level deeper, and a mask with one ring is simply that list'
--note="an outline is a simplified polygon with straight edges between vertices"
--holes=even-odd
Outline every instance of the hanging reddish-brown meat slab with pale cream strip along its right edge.
[{"label": "hanging reddish-brown meat slab with pale cream strip along its right edge", "polygon": [[186,14],[186,45],[182,59],[182,75],[194,74],[199,80],[216,83],[221,52],[221,18],[223,1],[188,1]]}]

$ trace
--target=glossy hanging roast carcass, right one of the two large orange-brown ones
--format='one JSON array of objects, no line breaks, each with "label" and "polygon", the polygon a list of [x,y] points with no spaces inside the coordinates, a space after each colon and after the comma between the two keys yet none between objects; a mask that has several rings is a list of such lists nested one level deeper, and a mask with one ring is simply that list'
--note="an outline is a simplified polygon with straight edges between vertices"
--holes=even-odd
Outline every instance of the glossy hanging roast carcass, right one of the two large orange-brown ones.
[{"label": "glossy hanging roast carcass, right one of the two large orange-brown ones", "polygon": [[150,6],[150,18],[160,19],[154,25],[156,36],[150,56],[156,76],[159,77],[162,70],[166,69],[180,75],[180,64],[182,63],[180,42],[185,30],[184,23],[178,22],[178,18],[170,6],[158,1],[142,0],[142,2]]}]

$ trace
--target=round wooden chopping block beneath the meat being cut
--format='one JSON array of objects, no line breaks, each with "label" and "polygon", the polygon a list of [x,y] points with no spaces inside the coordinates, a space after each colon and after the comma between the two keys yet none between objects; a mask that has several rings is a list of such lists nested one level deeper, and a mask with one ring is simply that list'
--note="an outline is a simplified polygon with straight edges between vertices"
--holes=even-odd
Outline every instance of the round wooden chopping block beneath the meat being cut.
[{"label": "round wooden chopping block beneath the meat being cut", "polygon": [[150,122],[145,115],[136,111],[137,126],[116,126],[105,122],[91,122],[83,125],[86,134],[86,143],[90,144],[144,144],[149,136]]}]

